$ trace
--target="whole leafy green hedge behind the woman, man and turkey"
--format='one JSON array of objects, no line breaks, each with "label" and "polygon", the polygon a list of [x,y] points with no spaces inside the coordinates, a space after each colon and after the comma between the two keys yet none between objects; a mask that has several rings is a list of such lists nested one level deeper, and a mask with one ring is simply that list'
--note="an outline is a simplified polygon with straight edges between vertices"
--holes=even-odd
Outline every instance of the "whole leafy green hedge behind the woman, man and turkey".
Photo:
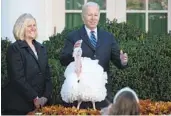
[{"label": "whole leafy green hedge behind the woman, man and turkey", "polygon": [[[130,86],[141,99],[171,101],[171,36],[150,36],[130,24],[117,23],[115,20],[107,21],[100,27],[114,34],[121,49],[127,52],[129,57],[127,69],[118,70],[114,65],[110,65],[113,95],[122,87]],[[65,67],[59,62],[59,54],[67,33],[72,30],[65,29],[62,33],[50,37],[49,41],[43,42],[48,49],[49,63],[52,68],[54,104],[61,102],[60,89],[64,81]],[[7,47],[3,44],[6,44],[5,42],[2,46]],[[2,49],[1,56],[2,83],[4,78],[7,78],[5,47]]]}]

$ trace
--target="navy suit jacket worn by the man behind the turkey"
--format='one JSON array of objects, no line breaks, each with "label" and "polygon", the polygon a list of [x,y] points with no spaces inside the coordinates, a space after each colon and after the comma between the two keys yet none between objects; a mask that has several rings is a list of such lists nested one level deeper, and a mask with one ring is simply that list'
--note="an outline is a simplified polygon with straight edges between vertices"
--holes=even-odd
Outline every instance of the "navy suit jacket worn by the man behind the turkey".
[{"label": "navy suit jacket worn by the man behind the turkey", "polygon": [[[108,74],[110,61],[112,61],[116,67],[124,68],[120,60],[120,49],[113,34],[97,28],[97,37],[97,47],[94,49],[89,41],[89,37],[84,25],[81,29],[69,33],[65,41],[65,46],[61,52],[61,64],[67,66],[70,62],[74,61],[74,58],[72,57],[74,44],[78,40],[83,40],[81,45],[83,51],[82,57],[98,59],[99,64],[104,68],[104,71],[108,72]],[[110,77],[108,77],[108,83],[109,82],[112,82]],[[109,93],[111,91],[110,89],[111,84],[109,83],[109,86],[107,86]],[[113,98],[110,97],[109,99],[109,101],[111,101]]]}]

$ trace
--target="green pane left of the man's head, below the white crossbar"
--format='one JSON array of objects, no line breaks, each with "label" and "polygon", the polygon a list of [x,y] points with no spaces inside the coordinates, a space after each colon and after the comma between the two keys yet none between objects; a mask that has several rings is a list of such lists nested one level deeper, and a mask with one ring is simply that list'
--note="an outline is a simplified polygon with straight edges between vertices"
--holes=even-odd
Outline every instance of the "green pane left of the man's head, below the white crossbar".
[{"label": "green pane left of the man's head, below the white crossbar", "polygon": [[83,24],[80,13],[67,13],[65,17],[65,26],[68,29],[79,26]]}]

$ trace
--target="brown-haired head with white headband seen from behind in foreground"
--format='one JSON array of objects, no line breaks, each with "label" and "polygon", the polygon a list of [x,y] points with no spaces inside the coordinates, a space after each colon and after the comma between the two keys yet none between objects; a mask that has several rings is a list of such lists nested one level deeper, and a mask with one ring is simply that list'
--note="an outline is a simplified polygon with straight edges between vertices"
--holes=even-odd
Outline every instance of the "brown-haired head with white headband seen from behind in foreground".
[{"label": "brown-haired head with white headband seen from behind in foreground", "polygon": [[121,89],[114,98],[109,115],[139,115],[140,106],[136,93],[126,87]]}]

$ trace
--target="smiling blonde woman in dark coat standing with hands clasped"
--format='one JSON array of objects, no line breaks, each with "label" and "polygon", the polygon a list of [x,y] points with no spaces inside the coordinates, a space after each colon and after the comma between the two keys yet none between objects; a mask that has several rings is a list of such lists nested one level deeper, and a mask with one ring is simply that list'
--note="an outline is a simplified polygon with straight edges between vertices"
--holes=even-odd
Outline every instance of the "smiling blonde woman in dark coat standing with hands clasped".
[{"label": "smiling blonde woman in dark coat standing with hands clasped", "polygon": [[50,101],[51,74],[46,49],[37,42],[36,19],[22,14],[15,22],[16,39],[7,51],[10,79],[2,90],[2,114],[25,115]]}]

